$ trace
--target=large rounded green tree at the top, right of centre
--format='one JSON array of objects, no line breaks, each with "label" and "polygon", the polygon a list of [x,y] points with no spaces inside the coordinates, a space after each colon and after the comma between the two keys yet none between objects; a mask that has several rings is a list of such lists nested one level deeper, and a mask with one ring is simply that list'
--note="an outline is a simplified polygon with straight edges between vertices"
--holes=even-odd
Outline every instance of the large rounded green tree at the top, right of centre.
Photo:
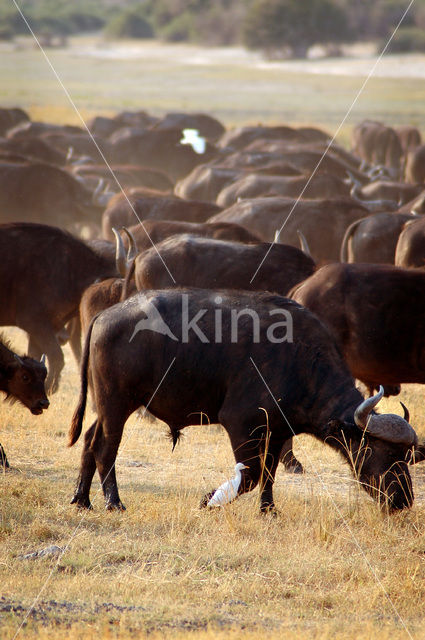
[{"label": "large rounded green tree at the top, right of centre", "polygon": [[313,44],[347,40],[347,16],[332,0],[254,0],[242,38],[269,57],[305,57]]}]

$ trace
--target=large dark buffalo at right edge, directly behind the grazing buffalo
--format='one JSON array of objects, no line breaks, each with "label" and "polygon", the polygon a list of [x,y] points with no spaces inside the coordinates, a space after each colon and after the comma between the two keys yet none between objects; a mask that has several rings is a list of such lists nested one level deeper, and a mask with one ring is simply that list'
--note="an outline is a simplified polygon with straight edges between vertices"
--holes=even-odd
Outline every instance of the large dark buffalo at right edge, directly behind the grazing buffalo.
[{"label": "large dark buffalo at right edge, directly behind the grazing buffalo", "polygon": [[373,264],[329,264],[291,292],[325,322],[353,376],[387,395],[425,383],[425,273]]}]

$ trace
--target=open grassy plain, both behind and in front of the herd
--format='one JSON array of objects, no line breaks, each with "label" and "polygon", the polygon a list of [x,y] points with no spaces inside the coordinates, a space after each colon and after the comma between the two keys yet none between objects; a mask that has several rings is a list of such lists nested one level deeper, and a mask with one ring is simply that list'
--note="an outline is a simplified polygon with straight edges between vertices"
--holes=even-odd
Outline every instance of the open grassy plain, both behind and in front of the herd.
[{"label": "open grassy plain, both behind and in front of the herd", "polygon": [[[374,64],[364,56],[303,67],[240,50],[132,47],[76,39],[47,52],[56,77],[28,40],[4,45],[0,104],[50,122],[124,109],[205,111],[227,127],[309,123],[333,134]],[[399,75],[386,59],[387,73],[382,67],[366,85],[341,142],[364,117],[424,130],[423,59],[397,60]],[[21,332],[4,333],[25,351]],[[134,414],[117,460],[127,511],[105,511],[96,477],[94,509],[79,512],[69,503],[82,438],[67,448],[79,373],[65,354],[61,387],[42,416],[0,405],[11,464],[0,477],[2,640],[425,638],[425,463],[412,467],[413,508],[388,516],[338,455],[301,436],[295,450],[306,473],[278,469],[276,517],[259,514],[258,491],[201,511],[202,495],[233,472],[224,430],[189,427],[171,453],[165,425]],[[423,386],[404,385],[399,398],[425,440]],[[402,413],[398,398],[380,409]]]}]

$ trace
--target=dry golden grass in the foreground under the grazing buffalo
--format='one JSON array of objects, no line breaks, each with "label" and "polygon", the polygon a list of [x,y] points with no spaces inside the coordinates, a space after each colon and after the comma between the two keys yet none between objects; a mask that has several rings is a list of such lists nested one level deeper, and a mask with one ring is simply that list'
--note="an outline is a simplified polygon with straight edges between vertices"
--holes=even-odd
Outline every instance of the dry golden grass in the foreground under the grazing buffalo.
[{"label": "dry golden grass in the foreground under the grazing buffalo", "polygon": [[[233,470],[223,430],[188,428],[171,454],[165,426],[134,415],[117,463],[127,511],[104,510],[95,478],[94,510],[79,512],[69,501],[81,441],[66,447],[78,387],[67,350],[47,413],[1,405],[13,468],[0,477],[0,638],[425,637],[423,467],[414,508],[387,517],[333,451],[302,436],[307,473],[278,470],[276,518],[259,515],[257,491],[201,511]],[[422,389],[402,398],[424,436]],[[50,545],[66,551],[21,557]]]}]

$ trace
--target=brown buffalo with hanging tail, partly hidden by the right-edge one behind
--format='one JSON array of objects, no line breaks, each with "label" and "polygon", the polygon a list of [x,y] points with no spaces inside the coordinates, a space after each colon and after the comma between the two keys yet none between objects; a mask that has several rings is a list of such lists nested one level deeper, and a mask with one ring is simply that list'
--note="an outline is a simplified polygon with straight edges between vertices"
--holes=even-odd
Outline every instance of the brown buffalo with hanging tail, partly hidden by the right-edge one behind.
[{"label": "brown buffalo with hanging tail, partly hidden by the right-edge one behind", "polygon": [[394,264],[398,237],[410,213],[374,213],[350,224],[341,244],[341,262]]}]

